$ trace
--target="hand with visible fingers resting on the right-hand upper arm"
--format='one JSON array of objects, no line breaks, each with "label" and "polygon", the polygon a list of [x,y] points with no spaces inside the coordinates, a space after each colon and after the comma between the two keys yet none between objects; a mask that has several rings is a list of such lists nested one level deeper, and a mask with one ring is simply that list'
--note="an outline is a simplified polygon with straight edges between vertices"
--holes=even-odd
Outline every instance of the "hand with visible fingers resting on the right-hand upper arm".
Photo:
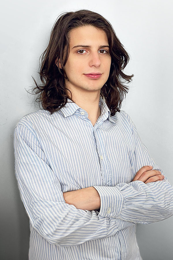
[{"label": "hand with visible fingers resting on the right-hand upper arm", "polygon": [[161,181],[164,176],[158,170],[151,170],[152,166],[143,166],[138,170],[133,181],[143,181],[144,183]]}]

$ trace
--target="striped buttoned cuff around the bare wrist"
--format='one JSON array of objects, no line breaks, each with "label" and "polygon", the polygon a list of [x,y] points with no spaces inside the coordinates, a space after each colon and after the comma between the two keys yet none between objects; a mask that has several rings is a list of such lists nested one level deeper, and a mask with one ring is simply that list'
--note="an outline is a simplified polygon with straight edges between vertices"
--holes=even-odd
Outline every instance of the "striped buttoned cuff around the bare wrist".
[{"label": "striped buttoned cuff around the bare wrist", "polygon": [[91,186],[100,195],[100,212],[98,216],[118,218],[123,207],[123,195],[115,186]]}]

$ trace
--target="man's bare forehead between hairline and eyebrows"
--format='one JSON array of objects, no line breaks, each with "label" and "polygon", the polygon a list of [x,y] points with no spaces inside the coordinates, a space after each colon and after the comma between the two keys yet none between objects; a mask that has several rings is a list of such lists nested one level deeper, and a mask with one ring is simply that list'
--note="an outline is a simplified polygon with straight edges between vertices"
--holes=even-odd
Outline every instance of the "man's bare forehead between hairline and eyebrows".
[{"label": "man's bare forehead between hairline and eyebrows", "polygon": [[[93,26],[83,26],[69,32],[70,47],[75,45],[108,45],[106,32]],[[73,46],[72,46],[73,45]]]}]

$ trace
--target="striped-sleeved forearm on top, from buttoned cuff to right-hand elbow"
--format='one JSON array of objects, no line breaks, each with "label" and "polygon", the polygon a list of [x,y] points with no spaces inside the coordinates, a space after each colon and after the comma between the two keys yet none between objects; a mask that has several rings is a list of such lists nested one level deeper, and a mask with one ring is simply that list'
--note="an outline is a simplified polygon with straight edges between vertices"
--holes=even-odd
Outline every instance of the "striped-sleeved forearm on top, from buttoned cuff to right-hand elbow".
[{"label": "striped-sleeved forearm on top, from buttoned cuff to right-hand elbow", "polygon": [[173,187],[168,180],[94,186],[100,194],[99,215],[140,224],[151,224],[173,215]]}]

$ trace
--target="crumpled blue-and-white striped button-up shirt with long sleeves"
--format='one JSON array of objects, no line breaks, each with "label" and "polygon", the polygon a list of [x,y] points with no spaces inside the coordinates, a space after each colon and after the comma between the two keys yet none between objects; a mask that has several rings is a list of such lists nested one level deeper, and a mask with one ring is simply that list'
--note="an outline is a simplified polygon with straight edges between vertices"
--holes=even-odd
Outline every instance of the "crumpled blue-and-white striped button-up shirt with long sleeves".
[{"label": "crumpled blue-and-white striped button-up shirt with long sleeves", "polygon": [[[30,222],[29,260],[140,260],[136,225],[173,215],[173,186],[124,111],[110,116],[100,97],[93,126],[70,99],[39,109],[14,129],[15,176]],[[163,181],[132,181],[153,166]],[[63,192],[95,187],[100,211],[65,203]]]}]

